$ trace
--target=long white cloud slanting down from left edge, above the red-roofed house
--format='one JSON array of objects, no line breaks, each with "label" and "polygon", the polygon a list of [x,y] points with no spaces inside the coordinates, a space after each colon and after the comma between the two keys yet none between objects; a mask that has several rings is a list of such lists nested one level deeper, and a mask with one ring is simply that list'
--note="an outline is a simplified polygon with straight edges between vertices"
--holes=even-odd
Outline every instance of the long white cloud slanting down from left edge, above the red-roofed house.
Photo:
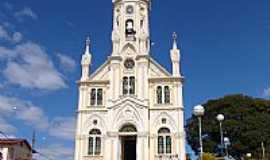
[{"label": "long white cloud slanting down from left edge, above the red-roofed house", "polygon": [[18,98],[0,95],[0,116],[6,118],[13,116],[14,119],[22,120],[25,124],[41,131],[49,128],[48,117],[40,107]]}]

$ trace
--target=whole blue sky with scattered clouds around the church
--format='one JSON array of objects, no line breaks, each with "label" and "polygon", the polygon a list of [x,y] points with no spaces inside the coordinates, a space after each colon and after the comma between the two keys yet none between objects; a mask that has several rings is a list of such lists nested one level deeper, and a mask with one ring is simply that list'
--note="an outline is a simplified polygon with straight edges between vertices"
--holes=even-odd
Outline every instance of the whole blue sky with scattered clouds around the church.
[{"label": "whole blue sky with scattered clouds around the church", "polygon": [[[153,0],[151,55],[170,71],[178,33],[187,118],[226,94],[270,97],[269,10],[267,0]],[[36,130],[42,152],[70,157],[84,40],[96,69],[111,53],[111,28],[110,0],[1,1],[0,130],[28,139]]]}]

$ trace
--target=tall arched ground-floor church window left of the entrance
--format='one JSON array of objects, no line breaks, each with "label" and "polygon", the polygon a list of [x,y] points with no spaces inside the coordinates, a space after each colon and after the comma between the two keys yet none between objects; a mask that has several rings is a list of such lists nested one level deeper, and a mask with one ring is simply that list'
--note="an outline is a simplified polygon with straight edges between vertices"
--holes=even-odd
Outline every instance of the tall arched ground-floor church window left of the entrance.
[{"label": "tall arched ground-floor church window left of the entrance", "polygon": [[89,132],[88,155],[101,154],[101,132],[98,129],[92,129]]}]

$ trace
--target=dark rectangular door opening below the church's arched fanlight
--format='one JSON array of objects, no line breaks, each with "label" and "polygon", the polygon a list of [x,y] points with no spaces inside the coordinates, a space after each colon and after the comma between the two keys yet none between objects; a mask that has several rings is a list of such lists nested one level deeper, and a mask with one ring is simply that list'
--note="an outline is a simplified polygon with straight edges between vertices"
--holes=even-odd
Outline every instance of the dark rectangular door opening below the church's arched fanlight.
[{"label": "dark rectangular door opening below the church's arched fanlight", "polygon": [[136,136],[121,137],[122,160],[136,160]]}]

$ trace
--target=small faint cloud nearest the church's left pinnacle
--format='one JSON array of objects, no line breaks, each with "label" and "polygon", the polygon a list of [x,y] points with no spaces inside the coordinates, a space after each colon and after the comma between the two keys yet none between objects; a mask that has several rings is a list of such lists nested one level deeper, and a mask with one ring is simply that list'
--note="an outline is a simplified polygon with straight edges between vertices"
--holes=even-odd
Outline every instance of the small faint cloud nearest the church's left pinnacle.
[{"label": "small faint cloud nearest the church's left pinnacle", "polygon": [[71,57],[64,54],[57,54],[61,67],[66,71],[73,71],[76,67],[76,62]]}]

